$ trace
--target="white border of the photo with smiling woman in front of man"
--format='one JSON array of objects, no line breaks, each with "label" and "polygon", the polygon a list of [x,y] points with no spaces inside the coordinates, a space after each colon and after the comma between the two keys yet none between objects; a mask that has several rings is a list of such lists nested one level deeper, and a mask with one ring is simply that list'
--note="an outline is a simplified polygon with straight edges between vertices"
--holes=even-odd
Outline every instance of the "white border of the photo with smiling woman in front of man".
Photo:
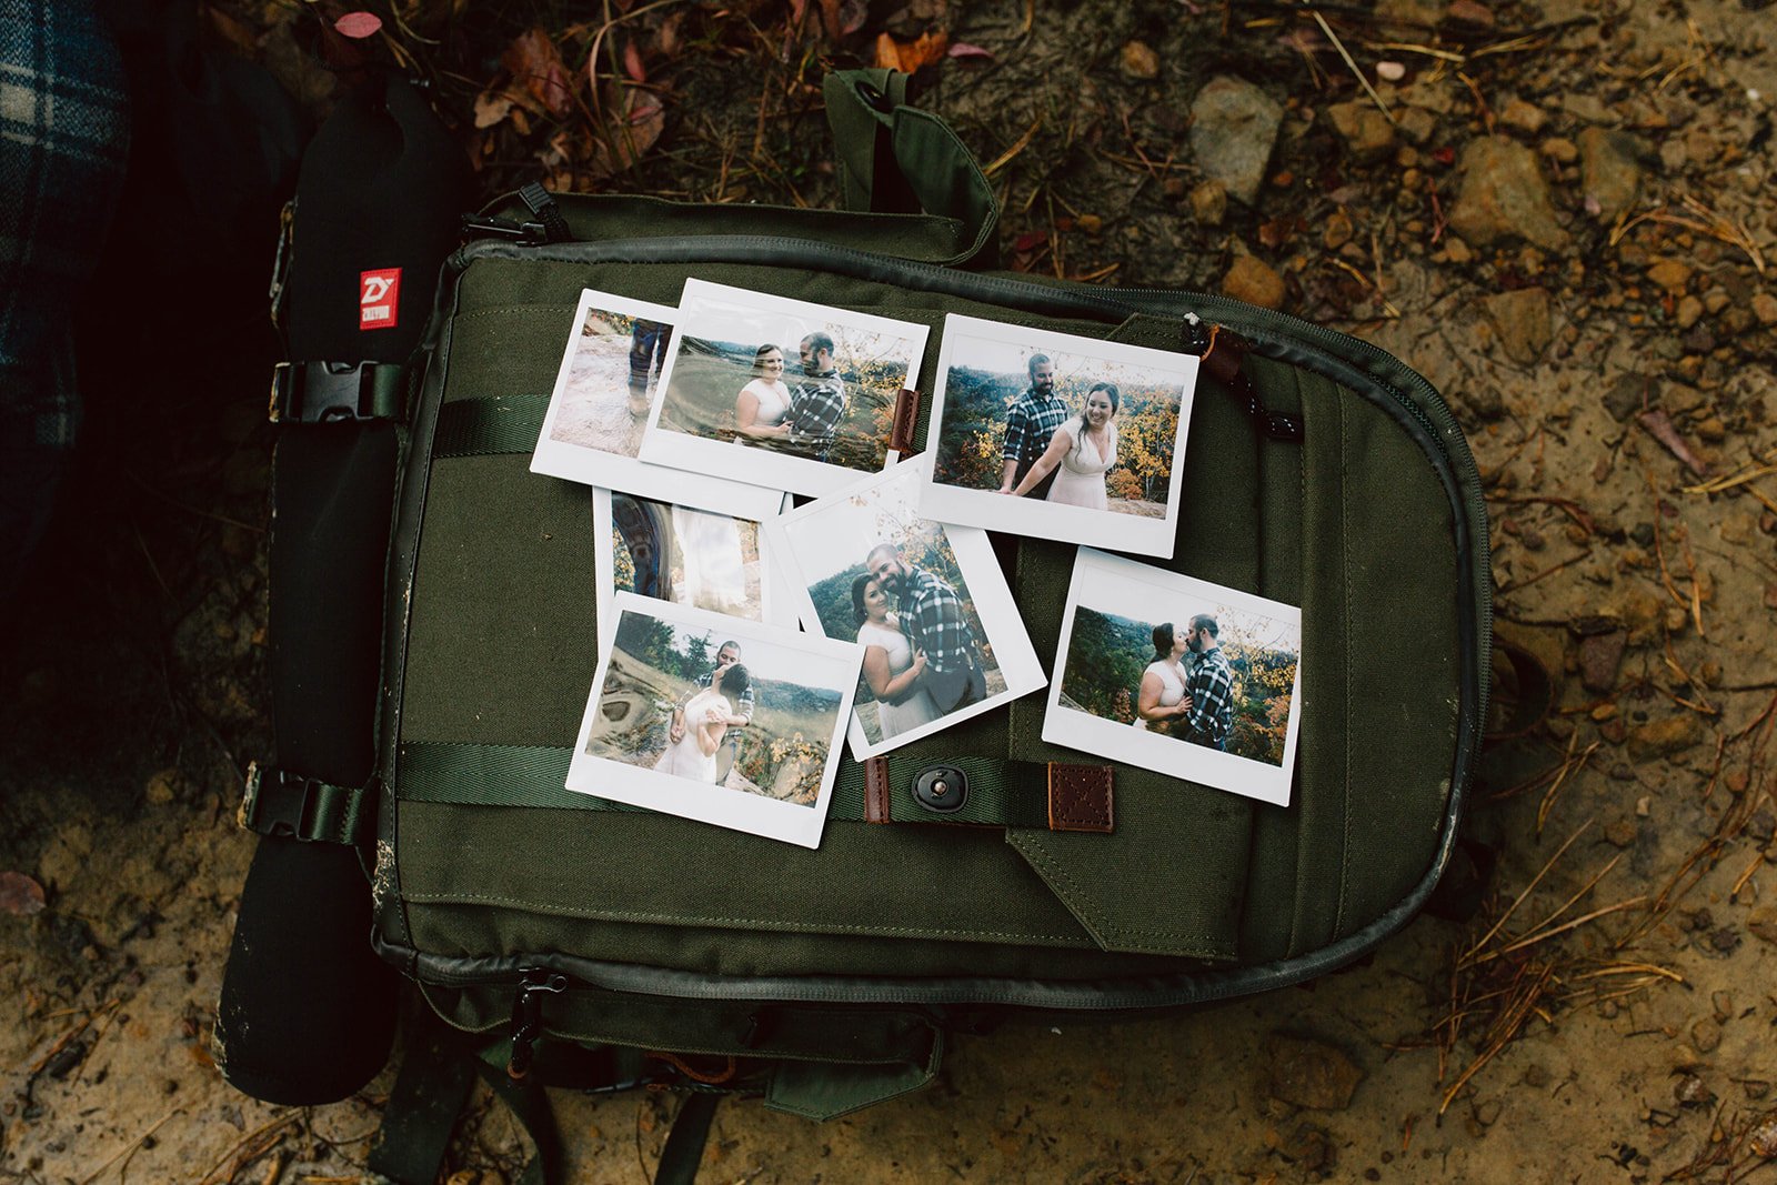
[{"label": "white border of the photo with smiling woman in front of man", "polygon": [[[1132,346],[1123,341],[1080,338],[1059,330],[986,322],[976,316],[947,313],[944,338],[938,346],[938,373],[931,393],[931,426],[926,432],[926,453],[936,457],[944,442],[944,389],[958,350],[967,350],[970,339],[1000,341],[1006,345],[1041,346],[1052,354],[1100,357],[1176,375],[1183,386],[1178,402],[1178,435],[1173,439],[1173,467],[1166,485],[1166,517],[1143,519],[1114,510],[1088,510],[1061,503],[1032,503],[1029,497],[1009,497],[997,490],[970,490],[958,485],[940,485],[928,478],[919,512],[940,522],[979,526],[988,531],[1054,538],[1064,544],[1093,544],[1114,551],[1132,551],[1144,556],[1169,558],[1178,531],[1178,490],[1185,473],[1185,433],[1191,423],[1191,405],[1196,398],[1198,362],[1194,354],[1175,354],[1150,346]],[[967,354],[965,359],[967,361]],[[645,448],[645,444],[643,444]]]}]

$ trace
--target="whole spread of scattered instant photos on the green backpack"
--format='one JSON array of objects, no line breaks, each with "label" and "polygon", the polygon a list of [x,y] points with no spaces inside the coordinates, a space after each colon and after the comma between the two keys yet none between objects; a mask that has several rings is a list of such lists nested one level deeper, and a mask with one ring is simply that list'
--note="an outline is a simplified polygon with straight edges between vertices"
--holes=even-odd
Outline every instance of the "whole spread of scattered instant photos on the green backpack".
[{"label": "whole spread of scattered instant photos on the green backpack", "polygon": [[1288,805],[1299,609],[1080,547],[1045,672],[986,533],[1169,558],[1199,359],[947,314],[901,460],[928,336],[700,279],[581,293],[531,458],[594,487],[567,787],[816,847],[841,736],[865,760],[1047,686],[1045,741]]}]

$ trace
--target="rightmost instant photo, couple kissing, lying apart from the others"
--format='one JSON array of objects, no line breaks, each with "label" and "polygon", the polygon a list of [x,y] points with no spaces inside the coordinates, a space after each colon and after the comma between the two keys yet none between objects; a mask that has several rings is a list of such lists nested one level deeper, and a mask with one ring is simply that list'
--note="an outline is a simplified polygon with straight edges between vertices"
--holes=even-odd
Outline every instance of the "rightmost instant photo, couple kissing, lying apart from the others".
[{"label": "rightmost instant photo, couple kissing, lying apart from the others", "polygon": [[1303,611],[1088,547],[1043,739],[1290,803]]}]

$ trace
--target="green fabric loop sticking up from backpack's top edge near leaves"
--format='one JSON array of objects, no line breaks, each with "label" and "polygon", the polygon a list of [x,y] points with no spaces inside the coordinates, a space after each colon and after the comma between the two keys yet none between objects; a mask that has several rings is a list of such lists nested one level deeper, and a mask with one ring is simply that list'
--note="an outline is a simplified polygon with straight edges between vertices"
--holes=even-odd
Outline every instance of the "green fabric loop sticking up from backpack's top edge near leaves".
[{"label": "green fabric loop sticking up from backpack's top edge near leaves", "polygon": [[906,107],[906,75],[841,69],[826,76],[823,94],[848,210],[954,219],[963,251],[951,263],[997,261],[993,187],[949,124]]}]

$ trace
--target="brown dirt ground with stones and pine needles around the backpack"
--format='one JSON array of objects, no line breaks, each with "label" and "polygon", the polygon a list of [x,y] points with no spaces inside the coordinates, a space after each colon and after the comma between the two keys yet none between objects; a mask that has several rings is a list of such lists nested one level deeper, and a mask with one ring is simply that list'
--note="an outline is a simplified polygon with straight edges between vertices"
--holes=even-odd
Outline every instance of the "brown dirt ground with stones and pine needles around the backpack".
[{"label": "brown dirt ground with stones and pine needles around the backpack", "polygon": [[[723,1103],[704,1180],[1777,1181],[1768,2],[1384,0],[1326,27],[1191,0],[794,4],[801,25],[617,4],[663,110],[631,92],[657,140],[615,179],[524,101],[473,126],[522,5],[439,43],[490,192],[553,172],[832,203],[821,62],[947,32],[922,105],[997,162],[1009,263],[1230,290],[1422,370],[1487,481],[1498,632],[1560,677],[1550,718],[1482,759],[1468,831],[1500,862],[1477,917],[1205,1013],[958,1039],[933,1089],[826,1126]],[[206,20],[320,108],[300,7]],[[858,27],[833,41],[825,11]],[[236,389],[137,451],[91,425],[128,464],[76,473],[5,615],[0,1181],[354,1181],[393,1080],[275,1109],[208,1052],[252,851],[240,775],[270,752],[272,433],[263,380]],[[679,1107],[556,1103],[599,1183],[649,1180]],[[521,1160],[483,1100],[450,1181]]]}]

